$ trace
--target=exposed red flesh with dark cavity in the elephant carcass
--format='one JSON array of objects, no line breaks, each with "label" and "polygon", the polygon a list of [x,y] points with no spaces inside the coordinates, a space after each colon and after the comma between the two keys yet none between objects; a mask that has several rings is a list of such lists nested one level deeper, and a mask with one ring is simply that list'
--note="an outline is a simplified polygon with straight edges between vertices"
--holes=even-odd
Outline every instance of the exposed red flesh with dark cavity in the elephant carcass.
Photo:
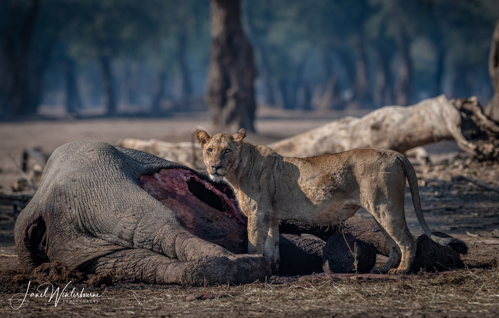
[{"label": "exposed red flesh with dark cavity in the elephant carcass", "polygon": [[248,219],[222,187],[185,169],[162,169],[142,176],[139,185],[171,209],[192,234],[233,253],[246,253]]}]

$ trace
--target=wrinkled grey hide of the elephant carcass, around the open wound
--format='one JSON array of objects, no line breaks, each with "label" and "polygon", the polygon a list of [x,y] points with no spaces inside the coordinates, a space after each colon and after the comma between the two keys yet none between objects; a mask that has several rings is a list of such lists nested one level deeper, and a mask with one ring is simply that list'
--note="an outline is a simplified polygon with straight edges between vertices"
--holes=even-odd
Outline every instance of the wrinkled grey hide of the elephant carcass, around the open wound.
[{"label": "wrinkled grey hide of the elephant carcass, around the open wound", "polygon": [[103,142],[56,149],[41,185],[15,224],[20,264],[30,273],[58,261],[86,273],[152,284],[238,284],[264,280],[263,256],[234,254],[188,232],[138,184],[161,169],[186,169]]}]

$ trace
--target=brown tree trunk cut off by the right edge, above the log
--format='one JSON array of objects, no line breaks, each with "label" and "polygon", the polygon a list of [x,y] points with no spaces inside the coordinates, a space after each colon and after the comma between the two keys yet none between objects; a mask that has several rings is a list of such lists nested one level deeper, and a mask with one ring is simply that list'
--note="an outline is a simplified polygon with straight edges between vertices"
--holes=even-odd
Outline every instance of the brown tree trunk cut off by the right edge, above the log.
[{"label": "brown tree trunk cut off by the right edge, above the log", "polygon": [[499,19],[492,35],[491,51],[489,53],[489,74],[494,85],[494,97],[485,109],[485,113],[499,122]]}]

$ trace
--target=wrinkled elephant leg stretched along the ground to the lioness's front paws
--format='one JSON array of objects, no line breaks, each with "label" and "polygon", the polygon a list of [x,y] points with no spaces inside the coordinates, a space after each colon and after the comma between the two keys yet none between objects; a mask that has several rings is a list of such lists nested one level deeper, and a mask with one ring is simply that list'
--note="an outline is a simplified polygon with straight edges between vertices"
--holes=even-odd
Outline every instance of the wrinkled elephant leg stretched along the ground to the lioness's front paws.
[{"label": "wrinkled elephant leg stretched along the ground to the lioness's front paws", "polygon": [[126,281],[204,286],[251,283],[264,279],[262,271],[255,269],[268,268],[268,264],[263,257],[252,255],[207,257],[182,262],[152,251],[131,249],[102,257],[95,261],[93,267],[95,274],[109,273]]}]

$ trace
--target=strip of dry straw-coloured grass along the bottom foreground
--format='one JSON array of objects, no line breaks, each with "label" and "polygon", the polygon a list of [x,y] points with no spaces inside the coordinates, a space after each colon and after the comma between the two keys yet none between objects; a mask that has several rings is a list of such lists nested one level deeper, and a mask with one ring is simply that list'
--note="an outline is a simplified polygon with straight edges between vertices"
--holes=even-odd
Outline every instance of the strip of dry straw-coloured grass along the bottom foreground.
[{"label": "strip of dry straw-coloured grass along the bottom foreground", "polygon": [[[77,285],[76,290],[99,289]],[[24,287],[25,289],[25,287]],[[22,291],[21,287],[15,293]],[[240,291],[236,297],[186,301],[196,293]],[[32,299],[15,312],[2,293],[4,313],[50,317],[498,317],[499,268],[419,274],[408,280],[312,278],[206,288],[115,285],[96,304]],[[7,303],[6,303],[7,302]],[[7,314],[7,315],[8,315]]]}]

